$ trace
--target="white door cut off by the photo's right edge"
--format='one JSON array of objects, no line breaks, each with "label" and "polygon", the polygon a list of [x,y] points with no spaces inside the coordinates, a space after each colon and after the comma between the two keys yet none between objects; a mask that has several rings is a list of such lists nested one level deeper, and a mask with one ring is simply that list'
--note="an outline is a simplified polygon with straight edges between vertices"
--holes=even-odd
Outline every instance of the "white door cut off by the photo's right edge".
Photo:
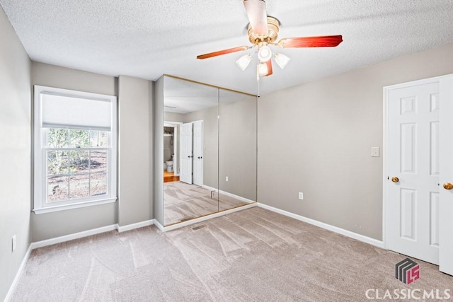
[{"label": "white door cut off by the photo's right edge", "polygon": [[[453,76],[440,79],[440,253],[439,269],[453,275]],[[448,188],[448,187],[447,187]]]}]

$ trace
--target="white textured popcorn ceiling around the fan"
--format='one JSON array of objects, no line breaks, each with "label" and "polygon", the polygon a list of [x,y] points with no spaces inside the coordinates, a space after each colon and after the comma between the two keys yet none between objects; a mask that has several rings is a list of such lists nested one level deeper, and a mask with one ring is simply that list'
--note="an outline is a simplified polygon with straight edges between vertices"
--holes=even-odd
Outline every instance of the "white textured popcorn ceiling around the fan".
[{"label": "white textured popcorn ceiling around the fan", "polygon": [[[243,53],[197,54],[249,45],[241,0],[0,0],[30,58],[99,74],[156,80],[171,74],[257,93]],[[453,42],[452,0],[268,0],[279,39],[343,35],[338,47],[285,49],[284,70],[261,94]],[[252,52],[253,50],[248,50]]]}]

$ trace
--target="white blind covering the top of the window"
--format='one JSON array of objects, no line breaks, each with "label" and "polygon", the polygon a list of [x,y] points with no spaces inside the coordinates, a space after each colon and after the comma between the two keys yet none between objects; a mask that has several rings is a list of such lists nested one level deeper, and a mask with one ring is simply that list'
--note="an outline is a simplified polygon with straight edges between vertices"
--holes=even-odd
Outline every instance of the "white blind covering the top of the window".
[{"label": "white blind covering the top of the window", "polygon": [[42,127],[69,126],[110,131],[110,100],[76,98],[70,95],[41,94]]}]

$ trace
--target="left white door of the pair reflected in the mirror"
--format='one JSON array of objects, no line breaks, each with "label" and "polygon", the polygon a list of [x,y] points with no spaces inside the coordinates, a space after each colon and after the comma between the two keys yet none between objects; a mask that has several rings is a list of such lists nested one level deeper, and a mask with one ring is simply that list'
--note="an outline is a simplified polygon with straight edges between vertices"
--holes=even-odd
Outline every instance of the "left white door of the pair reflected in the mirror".
[{"label": "left white door of the pair reflected in the mirror", "polygon": [[192,184],[192,123],[180,125],[179,180]]}]

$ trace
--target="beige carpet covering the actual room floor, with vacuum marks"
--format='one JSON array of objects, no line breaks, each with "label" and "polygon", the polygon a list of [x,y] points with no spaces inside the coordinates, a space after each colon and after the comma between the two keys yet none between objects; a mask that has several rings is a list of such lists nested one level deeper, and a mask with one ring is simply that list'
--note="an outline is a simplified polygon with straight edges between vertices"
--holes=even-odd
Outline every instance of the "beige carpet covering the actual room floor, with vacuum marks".
[{"label": "beige carpet covering the actual room floor, with vacuum marks", "polygon": [[33,250],[12,301],[367,301],[367,289],[452,293],[453,277],[418,260],[420,279],[395,279],[404,258],[255,207],[167,233],[150,226]]}]

